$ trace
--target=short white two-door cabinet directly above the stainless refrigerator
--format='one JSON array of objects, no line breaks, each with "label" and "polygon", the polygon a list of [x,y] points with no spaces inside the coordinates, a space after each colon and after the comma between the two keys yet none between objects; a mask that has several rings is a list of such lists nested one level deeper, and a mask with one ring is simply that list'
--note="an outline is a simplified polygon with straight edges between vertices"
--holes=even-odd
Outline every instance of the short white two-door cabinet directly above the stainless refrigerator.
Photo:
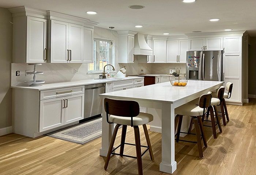
[{"label": "short white two-door cabinet directly above the stainless refrigerator", "polygon": [[222,50],[222,49],[223,49],[223,37],[189,39],[190,51]]}]

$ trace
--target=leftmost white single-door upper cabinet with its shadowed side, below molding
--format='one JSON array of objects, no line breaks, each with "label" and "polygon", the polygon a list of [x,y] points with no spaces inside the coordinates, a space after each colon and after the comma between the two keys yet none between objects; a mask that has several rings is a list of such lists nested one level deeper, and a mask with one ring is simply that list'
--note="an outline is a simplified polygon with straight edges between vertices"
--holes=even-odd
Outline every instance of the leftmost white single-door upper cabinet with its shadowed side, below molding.
[{"label": "leftmost white single-door upper cabinet with its shadowed side, below molding", "polygon": [[13,18],[13,62],[46,62],[46,19],[31,16]]}]

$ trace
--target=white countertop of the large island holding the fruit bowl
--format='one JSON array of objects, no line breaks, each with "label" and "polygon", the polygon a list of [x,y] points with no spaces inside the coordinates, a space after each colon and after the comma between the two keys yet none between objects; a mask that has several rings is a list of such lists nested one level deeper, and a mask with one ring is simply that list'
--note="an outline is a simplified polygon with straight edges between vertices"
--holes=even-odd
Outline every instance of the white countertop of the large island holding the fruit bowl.
[{"label": "white countertop of the large island holding the fruit bowl", "polygon": [[170,82],[164,82],[139,88],[104,93],[100,94],[100,96],[174,103],[178,100],[192,96],[195,93],[201,93],[209,88],[220,86],[222,83],[224,82],[189,80],[187,86],[172,86]]}]

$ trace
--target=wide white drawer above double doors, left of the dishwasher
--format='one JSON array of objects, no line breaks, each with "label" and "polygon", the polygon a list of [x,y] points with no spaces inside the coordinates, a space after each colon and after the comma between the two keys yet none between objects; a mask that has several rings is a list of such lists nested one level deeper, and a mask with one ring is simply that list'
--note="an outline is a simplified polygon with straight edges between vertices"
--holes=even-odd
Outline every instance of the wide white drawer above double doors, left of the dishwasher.
[{"label": "wide white drawer above double doors, left of the dishwasher", "polygon": [[40,100],[46,100],[50,98],[71,96],[75,94],[84,93],[84,86],[75,86],[70,88],[59,88],[40,91]]}]

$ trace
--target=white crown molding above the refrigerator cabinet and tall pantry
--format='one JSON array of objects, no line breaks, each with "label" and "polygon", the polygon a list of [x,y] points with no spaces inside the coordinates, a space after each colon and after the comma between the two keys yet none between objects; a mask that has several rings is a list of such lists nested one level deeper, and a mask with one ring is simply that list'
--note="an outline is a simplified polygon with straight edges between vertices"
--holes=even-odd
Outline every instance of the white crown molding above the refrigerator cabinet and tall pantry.
[{"label": "white crown molding above the refrigerator cabinet and tall pantry", "polygon": [[185,34],[188,38],[207,38],[209,36],[243,36],[246,31],[228,31],[228,32],[207,32],[207,33],[195,33],[195,34]]}]

